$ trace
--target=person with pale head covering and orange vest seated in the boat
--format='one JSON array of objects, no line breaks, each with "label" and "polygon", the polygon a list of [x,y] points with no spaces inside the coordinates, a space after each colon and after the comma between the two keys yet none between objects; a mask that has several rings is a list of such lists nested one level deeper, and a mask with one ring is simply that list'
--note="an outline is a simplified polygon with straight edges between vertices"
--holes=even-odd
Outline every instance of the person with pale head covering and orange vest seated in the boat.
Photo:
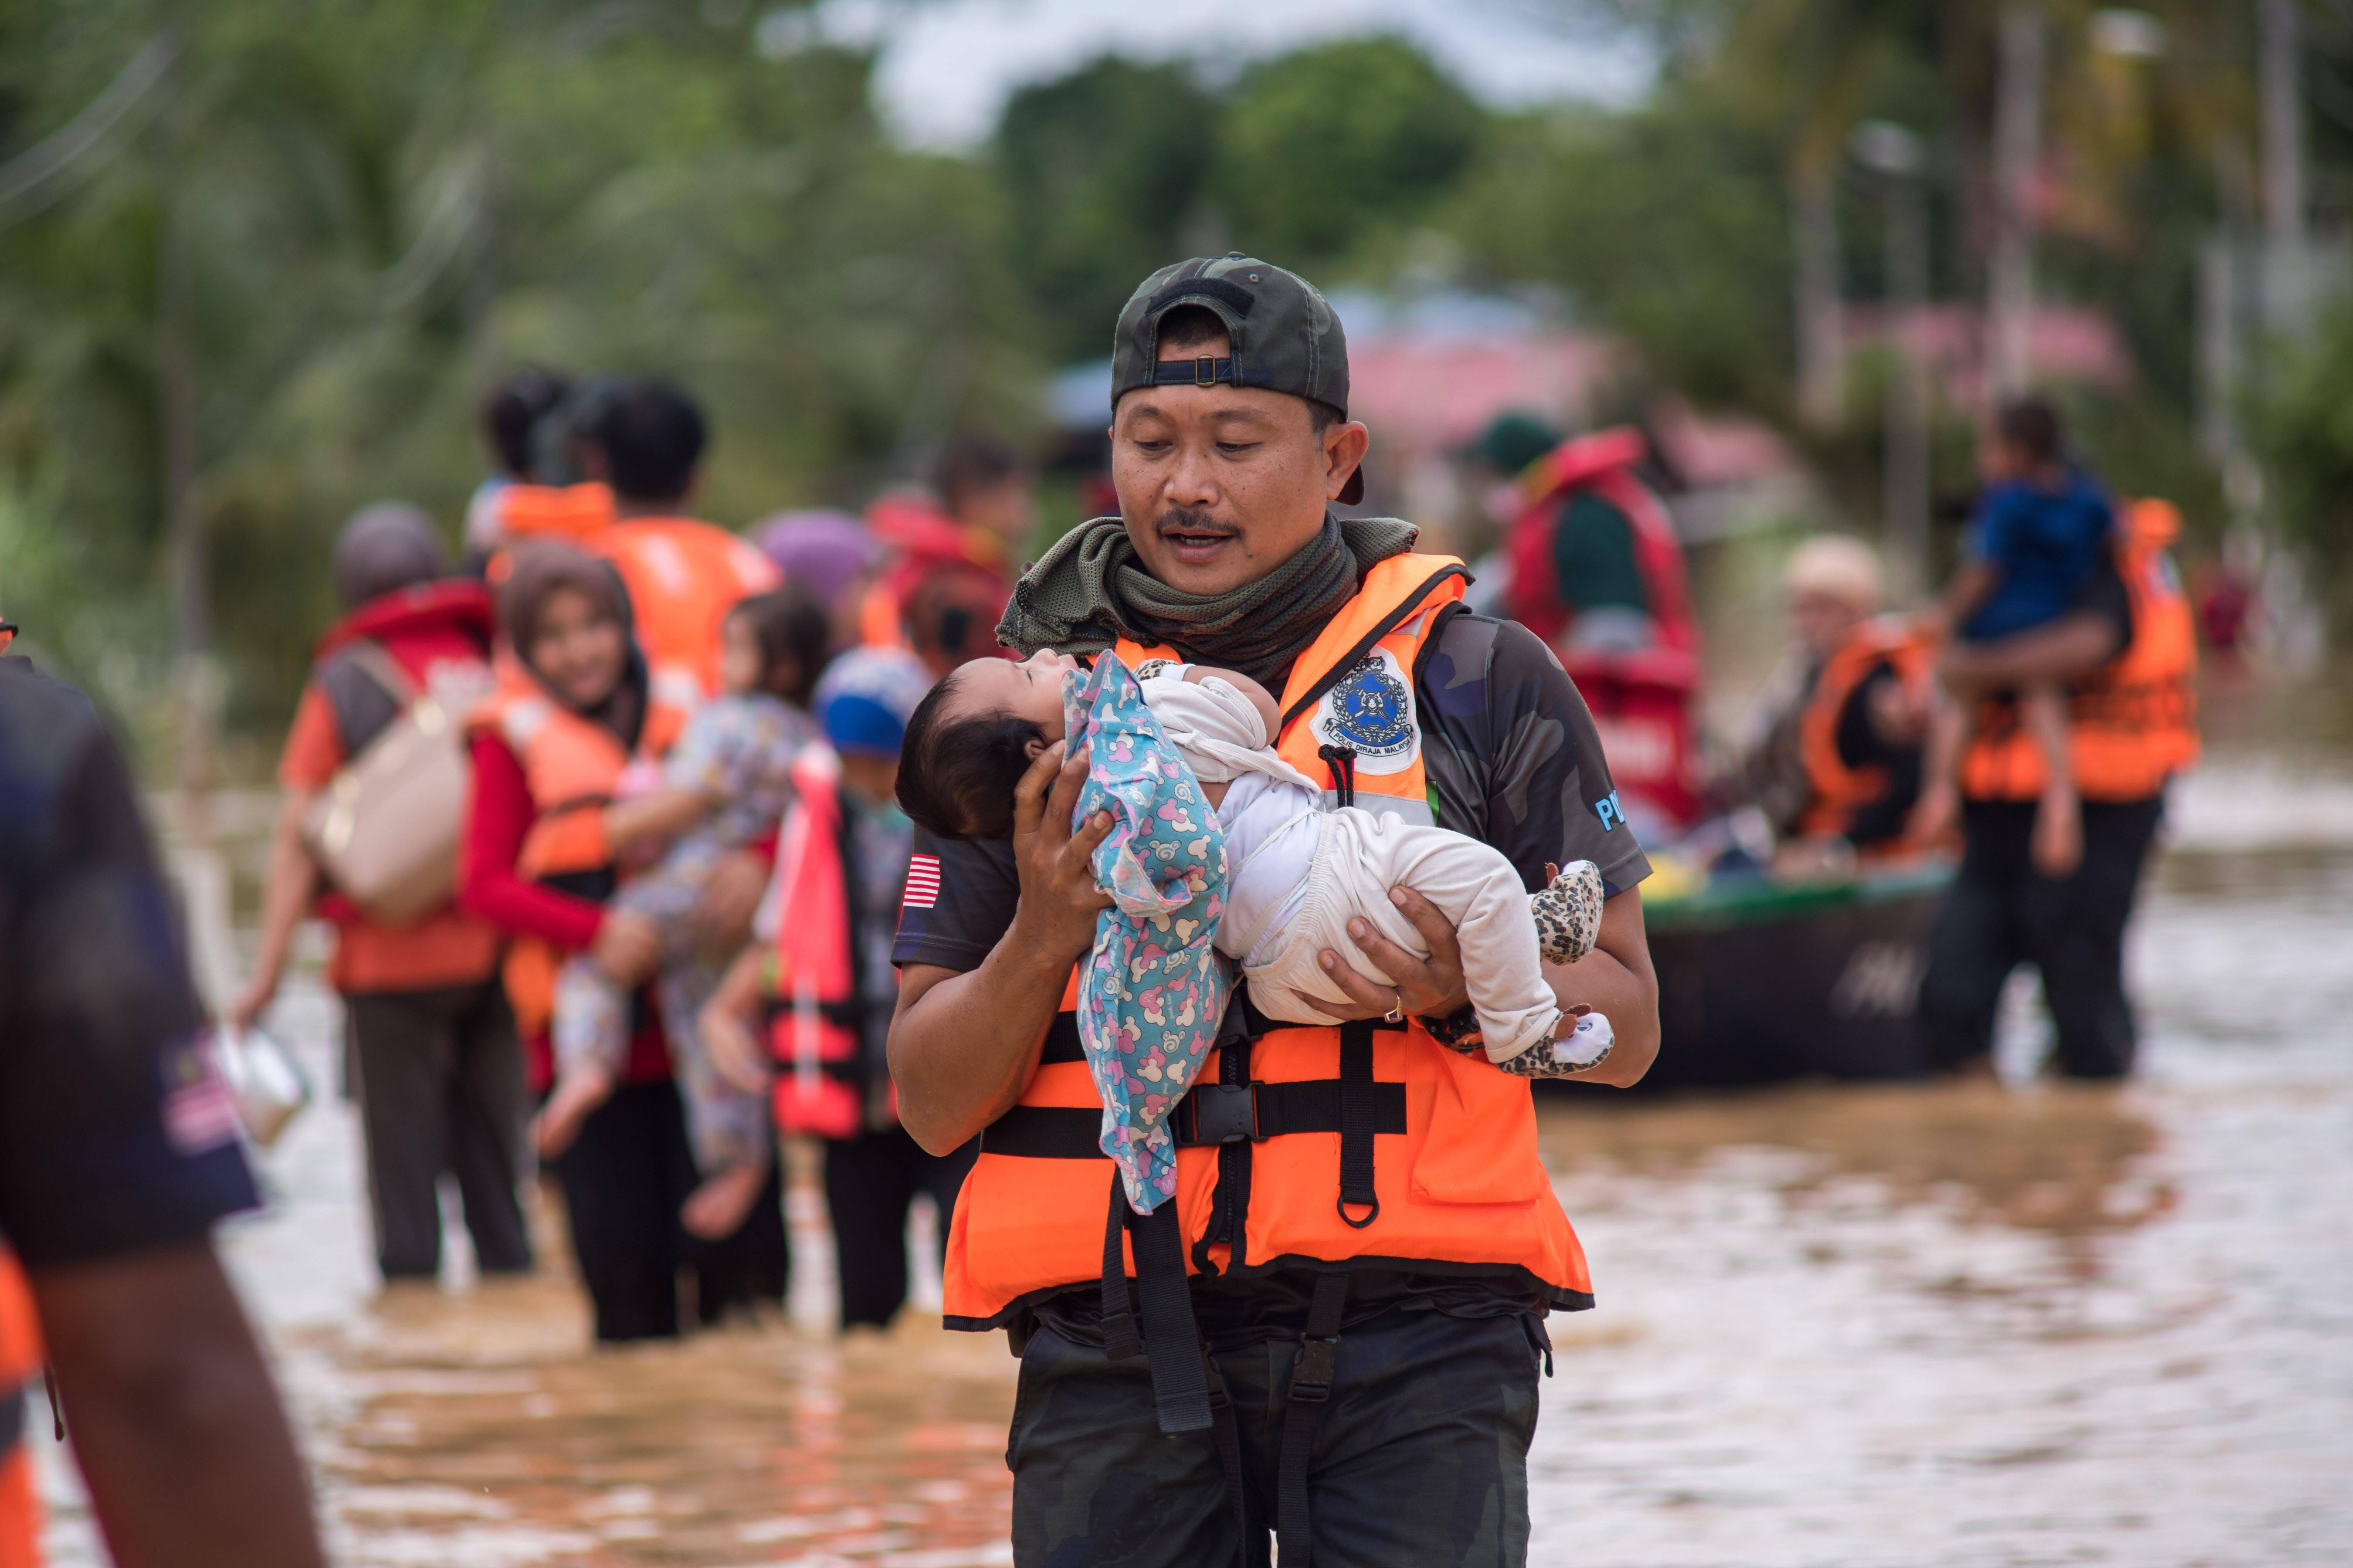
[{"label": "person with pale head covering and orange vest seated in the boat", "polygon": [[1880,617],[1880,584],[1878,551],[1842,534],[1807,539],[1781,572],[1795,645],[1725,793],[1762,808],[1805,855],[1911,845],[1929,647]]}]

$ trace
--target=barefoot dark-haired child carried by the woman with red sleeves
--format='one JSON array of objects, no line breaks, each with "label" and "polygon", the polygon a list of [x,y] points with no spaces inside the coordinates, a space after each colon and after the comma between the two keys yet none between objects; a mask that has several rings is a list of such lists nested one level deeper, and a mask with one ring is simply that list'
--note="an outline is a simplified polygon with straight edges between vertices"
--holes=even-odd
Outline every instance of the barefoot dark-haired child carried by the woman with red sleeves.
[{"label": "barefoot dark-haired child carried by the woman with red sleeves", "polygon": [[[696,1015],[718,986],[725,954],[696,946],[694,906],[711,871],[755,843],[791,800],[793,758],[816,737],[805,704],[826,662],[826,610],[798,589],[746,598],[720,626],[722,695],[701,704],[661,763],[661,782],[607,812],[616,841],[671,838],[661,859],[626,881],[607,918],[654,928],[661,1015],[671,1036],[687,1130],[704,1182],[680,1210],[706,1238],[732,1236],[767,1182],[767,1095],[739,1088],[699,1048]],[[619,1081],[631,1038],[631,996],[649,975],[609,975],[588,954],[555,977],[555,1092],[539,1114],[544,1156],[562,1154],[588,1111]]]}]

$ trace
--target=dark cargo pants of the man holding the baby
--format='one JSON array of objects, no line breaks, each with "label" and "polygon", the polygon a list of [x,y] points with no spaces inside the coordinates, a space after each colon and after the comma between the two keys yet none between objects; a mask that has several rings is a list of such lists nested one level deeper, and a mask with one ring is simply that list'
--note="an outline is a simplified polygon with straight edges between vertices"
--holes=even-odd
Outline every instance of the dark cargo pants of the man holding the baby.
[{"label": "dark cargo pants of the man holding the baby", "polygon": [[[1529,1318],[1391,1311],[1339,1340],[1308,1467],[1315,1568],[1518,1568],[1541,1354]],[[1005,1462],[1021,1568],[1221,1568],[1268,1561],[1285,1387],[1299,1340],[1214,1356],[1249,1483],[1249,1552],[1207,1431],[1162,1436],[1146,1358],[1108,1361],[1038,1328]]]}]

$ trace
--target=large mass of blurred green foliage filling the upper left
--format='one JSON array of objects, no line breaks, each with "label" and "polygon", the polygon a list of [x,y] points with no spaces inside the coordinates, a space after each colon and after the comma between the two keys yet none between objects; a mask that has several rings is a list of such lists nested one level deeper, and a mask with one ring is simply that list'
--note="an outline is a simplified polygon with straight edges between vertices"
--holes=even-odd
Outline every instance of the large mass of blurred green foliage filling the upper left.
[{"label": "large mass of blurred green foliage filling the upper left", "polygon": [[[181,219],[198,509],[231,720],[275,725],[358,504],[452,525],[506,365],[659,370],[718,440],[711,516],[856,499],[932,426],[1016,426],[1038,360],[984,170],[894,151],[864,54],[748,19],[508,0],[179,7],[184,115],[0,205],[0,560],[16,619],[160,690],[158,233]],[[139,0],[5,0],[0,167],[155,38]],[[0,193],[7,191],[0,177]],[[5,195],[0,195],[5,200]],[[31,577],[31,582],[24,582]],[[26,605],[33,582],[54,598]]]}]

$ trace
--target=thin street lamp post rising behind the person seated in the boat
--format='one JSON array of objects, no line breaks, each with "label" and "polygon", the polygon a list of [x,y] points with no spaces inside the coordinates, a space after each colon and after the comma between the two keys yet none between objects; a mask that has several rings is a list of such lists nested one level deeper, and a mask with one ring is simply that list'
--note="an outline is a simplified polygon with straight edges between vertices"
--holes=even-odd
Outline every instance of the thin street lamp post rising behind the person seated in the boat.
[{"label": "thin street lamp post rising behind the person seated in the boat", "polygon": [[1880,177],[1887,214],[1887,459],[1882,549],[1897,591],[1927,584],[1927,365],[1920,360],[1920,313],[1927,306],[1927,148],[1892,120],[1854,127],[1854,158]]}]

